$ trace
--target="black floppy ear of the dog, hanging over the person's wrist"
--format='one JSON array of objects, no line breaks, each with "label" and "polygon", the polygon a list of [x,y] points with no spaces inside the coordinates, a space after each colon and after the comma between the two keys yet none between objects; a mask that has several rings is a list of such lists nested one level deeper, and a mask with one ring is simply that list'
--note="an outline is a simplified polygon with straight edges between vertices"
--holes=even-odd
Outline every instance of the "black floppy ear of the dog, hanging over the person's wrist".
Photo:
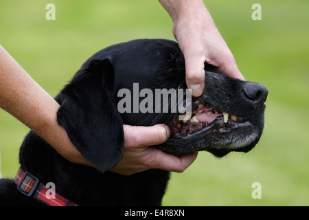
[{"label": "black floppy ear of the dog, hanging over the person's wrist", "polygon": [[113,65],[90,58],[56,100],[58,123],[78,151],[101,172],[122,159],[124,130],[114,100]]}]

